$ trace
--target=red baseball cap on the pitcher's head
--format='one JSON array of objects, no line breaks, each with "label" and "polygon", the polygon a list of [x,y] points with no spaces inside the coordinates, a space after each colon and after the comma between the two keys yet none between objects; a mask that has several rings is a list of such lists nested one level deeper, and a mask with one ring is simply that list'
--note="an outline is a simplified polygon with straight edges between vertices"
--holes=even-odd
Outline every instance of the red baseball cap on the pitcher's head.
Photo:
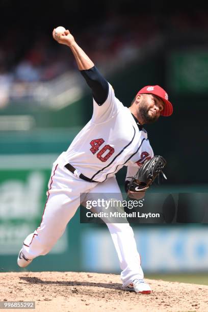
[{"label": "red baseball cap on the pitcher's head", "polygon": [[163,102],[165,103],[164,109],[161,111],[162,116],[170,116],[173,113],[173,107],[171,102],[168,100],[167,92],[161,88],[160,86],[146,86],[142,88],[137,94],[142,93],[152,93],[154,95],[159,96]]}]

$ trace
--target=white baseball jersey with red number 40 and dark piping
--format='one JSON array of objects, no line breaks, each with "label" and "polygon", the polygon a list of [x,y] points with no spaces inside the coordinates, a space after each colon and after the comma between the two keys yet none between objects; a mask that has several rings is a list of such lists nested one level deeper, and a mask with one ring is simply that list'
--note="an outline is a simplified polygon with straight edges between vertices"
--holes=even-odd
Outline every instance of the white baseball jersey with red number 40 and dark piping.
[{"label": "white baseball jersey with red number 40 and dark piping", "polygon": [[91,120],[61,154],[63,165],[70,163],[98,182],[114,176],[123,166],[128,166],[126,176],[134,175],[138,166],[152,157],[146,131],[139,130],[131,111],[116,98],[110,84],[106,101],[99,106],[93,99]]}]

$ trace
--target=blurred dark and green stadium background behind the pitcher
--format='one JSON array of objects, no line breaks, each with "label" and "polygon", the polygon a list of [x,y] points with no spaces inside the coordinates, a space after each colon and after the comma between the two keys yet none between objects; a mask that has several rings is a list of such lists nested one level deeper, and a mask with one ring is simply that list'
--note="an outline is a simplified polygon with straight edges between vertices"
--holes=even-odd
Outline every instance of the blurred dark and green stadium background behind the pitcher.
[{"label": "blurred dark and green stadium background behind the pitcher", "polygon": [[[51,166],[91,118],[92,97],[66,46],[77,43],[129,106],[145,85],[169,93],[174,114],[146,126],[168,180],[160,192],[207,192],[208,10],[192,4],[133,0],[57,3],[3,0],[0,43],[0,268],[19,271],[23,239],[40,223]],[[123,191],[125,168],[117,178]],[[181,204],[181,209],[184,209]],[[197,200],[191,208],[197,219]],[[206,207],[207,209],[207,207]],[[132,224],[148,277],[208,284],[207,224]],[[206,222],[207,223],[207,222]],[[105,225],[80,224],[79,211],[51,252],[31,271],[118,273]]]}]

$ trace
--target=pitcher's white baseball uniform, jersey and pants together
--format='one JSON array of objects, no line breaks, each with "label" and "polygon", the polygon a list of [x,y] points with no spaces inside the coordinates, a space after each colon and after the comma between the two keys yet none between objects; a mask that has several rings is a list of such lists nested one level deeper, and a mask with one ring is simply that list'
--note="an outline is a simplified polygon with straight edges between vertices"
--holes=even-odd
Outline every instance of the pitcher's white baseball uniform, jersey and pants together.
[{"label": "pitcher's white baseball uniform, jersey and pants together", "polygon": [[[32,260],[51,250],[80,206],[81,193],[84,203],[96,200],[96,193],[103,194],[106,200],[112,198],[109,192],[117,193],[116,198],[122,200],[113,176],[124,165],[131,166],[128,171],[134,168],[137,171],[138,165],[152,154],[146,132],[139,130],[131,111],[115,97],[110,86],[105,103],[98,106],[94,102],[92,119],[54,163],[40,226],[24,240],[20,252],[24,258],[19,256],[18,264],[24,267],[29,264],[23,261],[25,257]],[[67,163],[85,176],[104,182],[80,179],[63,167]],[[98,205],[94,209],[99,212]],[[144,277],[134,232],[128,223],[107,223],[107,226],[118,254],[123,287],[127,287]]]}]

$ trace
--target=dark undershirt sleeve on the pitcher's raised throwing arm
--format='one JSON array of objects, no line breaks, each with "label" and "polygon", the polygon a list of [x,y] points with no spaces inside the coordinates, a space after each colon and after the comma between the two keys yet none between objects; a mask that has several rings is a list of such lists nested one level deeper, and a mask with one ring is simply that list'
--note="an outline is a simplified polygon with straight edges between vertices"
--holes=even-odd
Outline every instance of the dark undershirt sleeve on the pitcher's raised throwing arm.
[{"label": "dark undershirt sleeve on the pitcher's raised throwing arm", "polygon": [[96,103],[101,106],[108,97],[109,84],[95,66],[80,71],[88,86],[92,89]]}]

